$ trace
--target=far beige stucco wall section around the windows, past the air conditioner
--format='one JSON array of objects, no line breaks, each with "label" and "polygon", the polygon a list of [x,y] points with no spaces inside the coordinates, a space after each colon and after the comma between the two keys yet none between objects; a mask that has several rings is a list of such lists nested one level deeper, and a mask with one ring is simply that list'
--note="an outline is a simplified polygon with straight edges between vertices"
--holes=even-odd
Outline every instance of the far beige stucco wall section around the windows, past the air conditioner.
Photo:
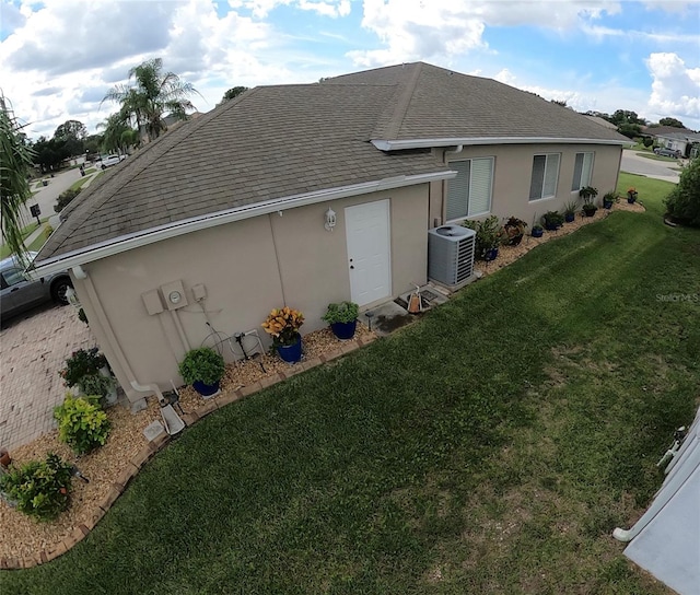
[{"label": "far beige stucco wall section around the windows, past the air conditioner", "polygon": [[[578,201],[579,192],[571,191],[576,153],[594,152],[591,185],[598,191],[598,201],[617,185],[621,147],[593,144],[502,144],[465,147],[460,153],[447,153],[446,161],[470,158],[494,158],[491,214],[499,218],[515,215],[529,225],[535,217],[547,211],[563,209],[569,201]],[[536,154],[560,153],[557,196],[529,200],[533,158]],[[431,196],[431,226],[435,218],[444,217],[444,200],[450,182],[444,183],[444,192]],[[581,206],[581,201],[579,201]]]}]

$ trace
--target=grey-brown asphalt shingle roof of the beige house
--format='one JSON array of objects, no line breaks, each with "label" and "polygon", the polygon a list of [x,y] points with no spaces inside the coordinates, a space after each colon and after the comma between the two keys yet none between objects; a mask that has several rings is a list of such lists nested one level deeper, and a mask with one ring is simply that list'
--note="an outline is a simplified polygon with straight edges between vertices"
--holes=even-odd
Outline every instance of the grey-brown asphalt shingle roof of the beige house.
[{"label": "grey-brown asphalt shingle roof of the beige house", "polygon": [[535,95],[422,62],[256,88],[91,185],[38,260],[236,207],[447,170],[428,150],[386,153],[374,139],[518,136],[626,140]]}]

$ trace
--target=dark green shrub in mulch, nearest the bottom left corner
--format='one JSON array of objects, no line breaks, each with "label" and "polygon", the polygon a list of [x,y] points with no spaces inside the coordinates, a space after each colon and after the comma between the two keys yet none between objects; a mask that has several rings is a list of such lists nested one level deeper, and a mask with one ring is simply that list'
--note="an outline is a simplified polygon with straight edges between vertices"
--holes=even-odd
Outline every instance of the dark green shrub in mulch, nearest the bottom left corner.
[{"label": "dark green shrub in mulch, nearest the bottom left corner", "polygon": [[56,518],[68,508],[72,465],[49,453],[0,476],[0,490],[18,510],[39,521]]}]

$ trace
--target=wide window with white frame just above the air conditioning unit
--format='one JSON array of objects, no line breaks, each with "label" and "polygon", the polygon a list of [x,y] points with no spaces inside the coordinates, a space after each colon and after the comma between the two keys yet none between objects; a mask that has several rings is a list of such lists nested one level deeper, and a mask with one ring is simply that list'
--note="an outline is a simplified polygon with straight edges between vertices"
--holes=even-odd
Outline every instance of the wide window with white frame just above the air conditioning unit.
[{"label": "wide window with white frame just above the air conditioning unit", "polygon": [[491,211],[493,158],[450,162],[457,175],[447,183],[446,220],[478,217]]}]

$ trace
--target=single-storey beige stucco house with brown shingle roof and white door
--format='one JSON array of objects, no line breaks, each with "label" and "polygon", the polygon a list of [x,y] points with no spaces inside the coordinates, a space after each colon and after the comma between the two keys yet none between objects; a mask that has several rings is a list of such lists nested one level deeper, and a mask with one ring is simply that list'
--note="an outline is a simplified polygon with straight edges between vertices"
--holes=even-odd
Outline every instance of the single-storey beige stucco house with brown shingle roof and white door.
[{"label": "single-storey beige stucco house with brown shingle roof and white door", "polygon": [[256,88],[91,185],[35,266],[71,270],[136,401],[179,381],[208,323],[265,336],[287,304],[307,332],[329,302],[393,300],[425,282],[429,229],[490,213],[532,223],[581,186],[614,189],[627,142],[530,93],[422,62]]}]

